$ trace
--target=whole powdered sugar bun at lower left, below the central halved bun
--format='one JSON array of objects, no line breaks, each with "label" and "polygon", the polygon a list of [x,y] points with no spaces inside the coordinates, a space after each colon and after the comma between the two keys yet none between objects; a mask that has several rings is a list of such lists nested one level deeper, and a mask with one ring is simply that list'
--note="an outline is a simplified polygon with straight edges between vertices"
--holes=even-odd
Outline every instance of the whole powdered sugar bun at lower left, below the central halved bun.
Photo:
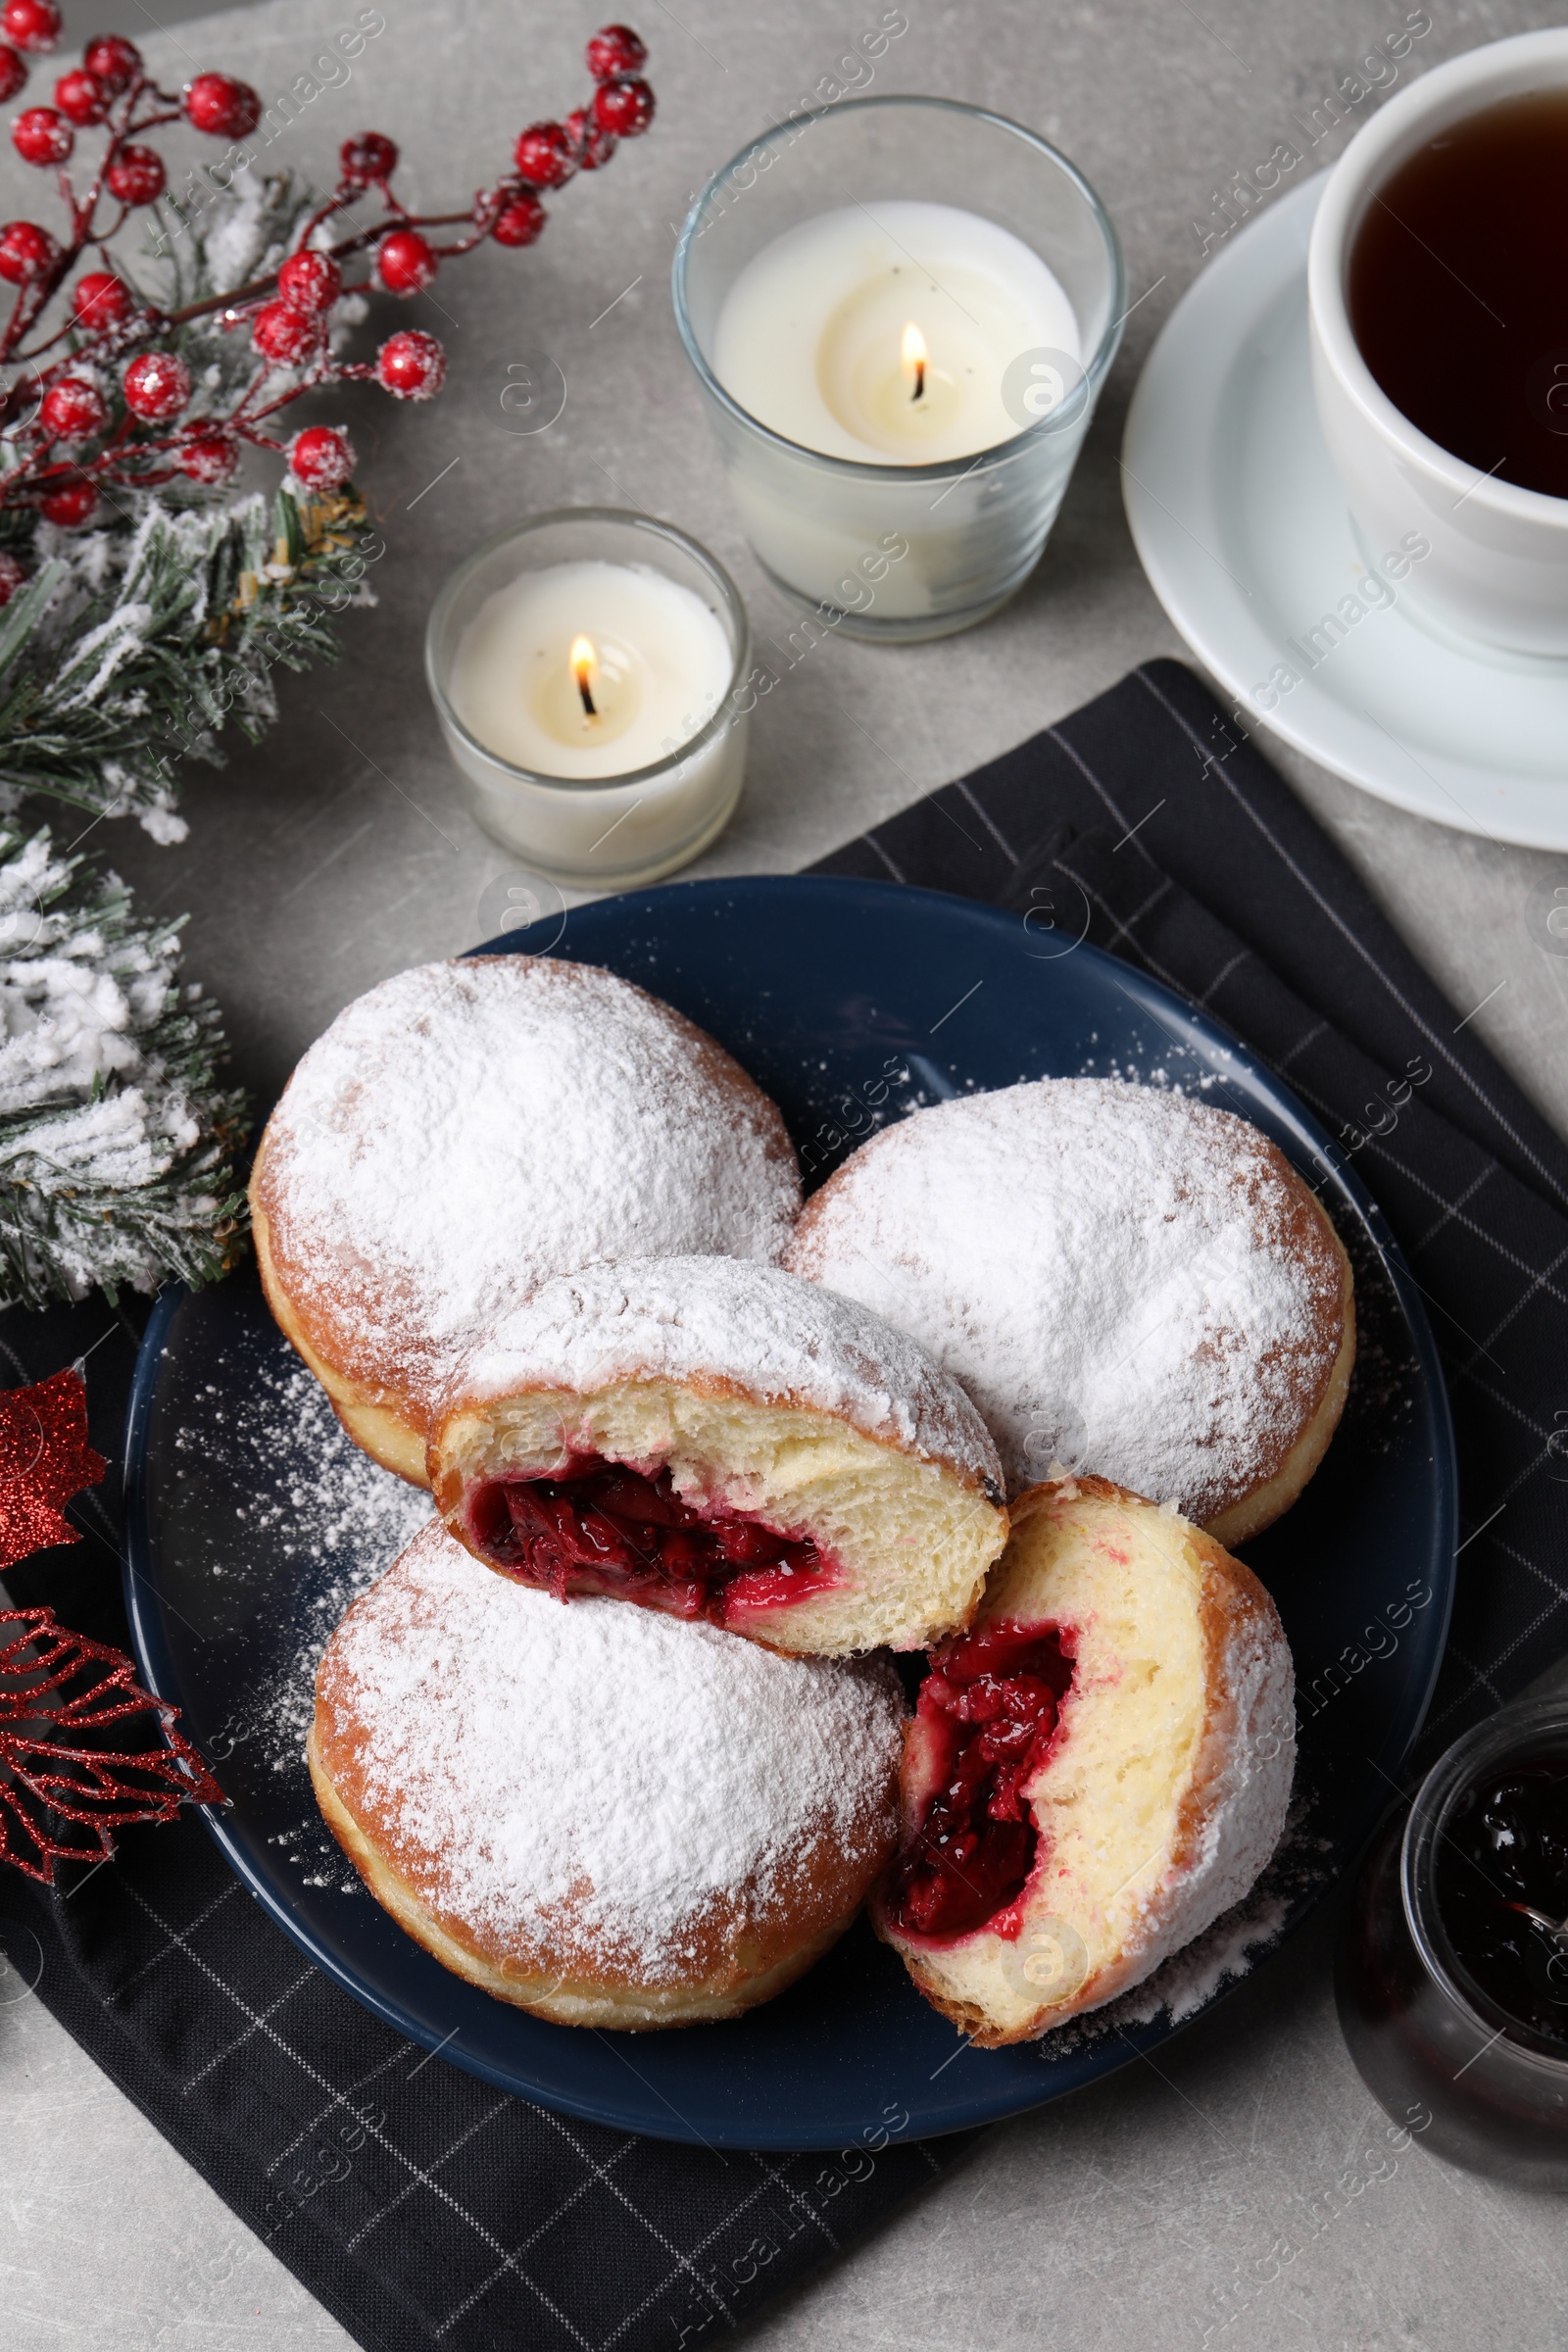
[{"label": "whole powdered sugar bun at lower left, below the central halved bun", "polygon": [[884,1665],[505,1583],[430,1522],[322,1658],[310,1778],[428,1952],[562,2025],[783,1992],[893,1851]]}]

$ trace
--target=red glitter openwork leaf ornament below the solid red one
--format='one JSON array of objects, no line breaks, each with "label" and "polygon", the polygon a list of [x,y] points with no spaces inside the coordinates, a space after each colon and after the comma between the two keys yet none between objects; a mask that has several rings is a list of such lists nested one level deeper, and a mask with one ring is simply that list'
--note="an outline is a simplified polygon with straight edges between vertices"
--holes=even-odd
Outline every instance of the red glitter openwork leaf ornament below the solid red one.
[{"label": "red glitter openwork leaf ornament below the solid red one", "polygon": [[[134,1715],[158,1719],[153,1745],[108,1745],[108,1726]],[[52,1609],[0,1609],[0,1863],[52,1886],[56,1863],[108,1860],[115,1830],[221,1804],[174,1717],[122,1649],[68,1632]]]}]

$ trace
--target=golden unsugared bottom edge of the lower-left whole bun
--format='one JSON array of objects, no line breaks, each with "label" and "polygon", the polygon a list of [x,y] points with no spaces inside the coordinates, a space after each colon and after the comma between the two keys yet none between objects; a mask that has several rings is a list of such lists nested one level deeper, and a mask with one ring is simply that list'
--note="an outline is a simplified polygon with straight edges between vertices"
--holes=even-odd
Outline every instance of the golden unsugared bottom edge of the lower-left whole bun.
[{"label": "golden unsugared bottom edge of the lower-left whole bun", "polygon": [[[661,2025],[705,2025],[719,2018],[738,2018],[748,2009],[757,2009],[762,2002],[771,2002],[778,1992],[804,1976],[806,1969],[827,1952],[844,1929],[856,1917],[853,1910],[844,1912],[820,1933],[809,1936],[802,1945],[788,1952],[771,1969],[757,1976],[743,1976],[743,1966],[724,1971],[722,1978],[708,1985],[614,1985],[595,1978],[574,1978],[569,1973],[538,1973],[520,1966],[517,1962],[496,1962],[480,1952],[473,1940],[465,1940],[451,1924],[437,1917],[437,1912],[416,1893],[409,1879],[395,1870],[388,1858],[369,1842],[355,1816],[348,1811],[339,1785],[327,1771],[322,1748],[317,1740],[315,1724],[310,1726],[310,1738],[306,1743],[306,1759],[310,1764],[310,1783],[315,1788],[315,1799],[322,1809],[327,1828],[343,1846],[371,1896],[386,1912],[393,1915],[400,1929],[423,1945],[444,1969],[454,1976],[465,1976],[470,1985],[480,1985],[484,1992],[494,1994],[498,2002],[512,2002],[517,2009],[529,2009],[536,2018],[550,2018],[555,2025],[599,2025],[614,2027],[616,2032],[651,2032]],[[738,1955],[743,1964],[745,1955]]]}]

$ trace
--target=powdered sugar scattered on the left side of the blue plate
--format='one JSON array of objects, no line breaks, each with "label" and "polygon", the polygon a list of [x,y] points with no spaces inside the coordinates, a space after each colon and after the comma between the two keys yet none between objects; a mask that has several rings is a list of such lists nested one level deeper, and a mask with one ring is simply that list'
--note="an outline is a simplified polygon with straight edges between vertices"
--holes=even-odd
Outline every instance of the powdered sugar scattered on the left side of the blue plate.
[{"label": "powdered sugar scattered on the left side of the blue plate", "polygon": [[[221,1583],[266,1564],[266,1606],[287,1611],[282,1656],[273,1644],[273,1661],[244,1684],[212,1748],[214,1762],[247,1745],[270,1773],[294,1773],[310,1731],[320,1656],[348,1604],[428,1522],[430,1496],[360,1454],[313,1374],[292,1359],[256,1367],[247,1355],[240,1376],[209,1383],[193,1399],[174,1446],[193,1475],[233,1494],[235,1552],[244,1566],[228,1566],[214,1552],[205,1573]],[[322,1562],[324,1578],[289,1578],[289,1564]]]}]

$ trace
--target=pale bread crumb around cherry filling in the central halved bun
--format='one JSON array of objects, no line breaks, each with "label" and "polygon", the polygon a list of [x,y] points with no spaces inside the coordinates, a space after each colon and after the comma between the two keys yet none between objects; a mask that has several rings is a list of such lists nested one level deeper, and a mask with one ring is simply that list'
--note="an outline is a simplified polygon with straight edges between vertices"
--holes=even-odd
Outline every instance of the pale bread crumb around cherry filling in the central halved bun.
[{"label": "pale bread crumb around cherry filling in the central halved bun", "polygon": [[1006,1512],[940,1463],[877,1444],[835,1414],[675,1381],[524,1390],[451,1414],[430,1446],[451,1534],[484,1557],[465,1522],[470,1486],[548,1475],[567,1454],[668,1465],[684,1501],[811,1534],[844,1583],[736,1623],[778,1651],[926,1649],[969,1623],[1006,1543]]}]

